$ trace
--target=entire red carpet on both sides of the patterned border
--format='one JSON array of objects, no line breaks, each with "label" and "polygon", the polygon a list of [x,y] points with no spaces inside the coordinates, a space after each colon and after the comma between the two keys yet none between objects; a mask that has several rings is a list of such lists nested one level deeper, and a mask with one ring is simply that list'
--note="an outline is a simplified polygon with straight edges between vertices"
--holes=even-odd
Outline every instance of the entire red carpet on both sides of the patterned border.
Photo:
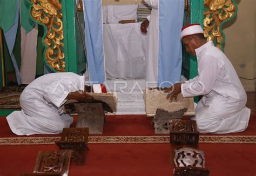
[{"label": "entire red carpet on both sides of the patterned border", "polygon": [[[76,121],[76,118],[75,118]],[[151,120],[145,116],[107,116],[102,138],[111,136],[151,136],[154,134]],[[75,125],[75,124],[74,124]],[[256,116],[252,115],[245,132],[228,136],[256,136]],[[9,129],[5,117],[0,117],[0,139],[18,137]],[[60,135],[34,135],[32,137],[59,137]],[[165,135],[166,136],[166,135]],[[165,137],[163,135],[157,137]],[[227,137],[227,135],[210,135]],[[91,136],[91,138],[97,138]],[[23,136],[23,138],[27,138]],[[30,137],[29,137],[30,138]],[[166,137],[168,139],[168,137]],[[255,138],[254,138],[255,139]],[[228,140],[226,141],[228,142]],[[232,142],[232,141],[231,141]],[[254,143],[256,141],[254,140]],[[206,167],[210,175],[255,175],[255,144],[200,143],[199,149],[205,152]],[[170,144],[93,144],[89,143],[86,165],[71,164],[69,175],[173,175],[170,161]],[[32,172],[38,151],[58,150],[55,145],[0,145],[0,175],[12,176]]]}]

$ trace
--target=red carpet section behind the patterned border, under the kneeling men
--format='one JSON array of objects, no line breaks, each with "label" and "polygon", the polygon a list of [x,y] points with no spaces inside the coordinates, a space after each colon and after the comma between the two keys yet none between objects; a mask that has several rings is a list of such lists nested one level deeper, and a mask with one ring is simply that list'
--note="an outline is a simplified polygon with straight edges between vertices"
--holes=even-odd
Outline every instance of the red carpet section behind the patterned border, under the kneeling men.
[{"label": "red carpet section behind the patterned border, under the kneeling men", "polygon": [[[122,115],[106,116],[107,123],[104,125],[103,134],[97,136],[156,136],[154,127],[151,125],[151,119],[145,115]],[[76,126],[77,116],[74,117],[74,123],[71,127]],[[200,134],[201,136],[209,134]],[[226,136],[227,134],[211,134],[213,136]],[[244,132],[230,133],[228,136],[250,136],[256,135],[256,114],[251,114],[248,128]],[[30,137],[56,137],[60,134],[32,135]],[[93,135],[91,135],[93,136]],[[95,136],[95,135],[94,135]],[[3,137],[26,137],[17,136],[12,133],[5,117],[0,117],[0,138]]]}]

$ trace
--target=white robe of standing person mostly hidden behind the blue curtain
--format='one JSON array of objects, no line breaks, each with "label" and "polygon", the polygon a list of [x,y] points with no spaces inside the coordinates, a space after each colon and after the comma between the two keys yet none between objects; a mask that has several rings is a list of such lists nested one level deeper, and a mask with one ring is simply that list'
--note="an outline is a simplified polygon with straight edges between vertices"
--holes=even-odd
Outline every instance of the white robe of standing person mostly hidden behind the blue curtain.
[{"label": "white robe of standing person mostly hidden behind the blue curtain", "polygon": [[158,84],[158,28],[159,12],[158,0],[144,0],[152,7],[151,15],[147,18],[150,21],[147,33],[147,54],[146,54],[146,81],[149,87],[157,87]]}]

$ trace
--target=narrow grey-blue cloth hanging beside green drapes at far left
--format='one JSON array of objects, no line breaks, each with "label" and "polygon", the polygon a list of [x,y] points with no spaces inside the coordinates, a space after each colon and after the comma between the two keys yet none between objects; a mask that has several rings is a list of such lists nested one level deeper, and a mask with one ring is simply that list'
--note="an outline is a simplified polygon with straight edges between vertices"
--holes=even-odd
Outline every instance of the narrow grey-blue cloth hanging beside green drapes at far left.
[{"label": "narrow grey-blue cloth hanging beside green drapes at far left", "polygon": [[[4,32],[4,37],[5,37],[7,47],[9,49],[9,54],[11,56],[12,64],[14,65],[17,83],[18,83],[18,85],[20,85],[21,84],[21,76],[19,74],[19,68],[18,68],[16,59],[15,59],[14,53],[12,52],[14,50],[14,44],[15,44],[16,34],[17,34],[17,29],[18,29],[19,1],[16,1],[16,2],[8,1],[8,3],[16,3],[15,8],[9,9],[9,13],[8,13],[8,14],[15,13],[15,21],[14,21],[14,25],[12,25],[8,31]],[[6,4],[2,2],[2,5],[6,5]],[[14,7],[14,6],[12,6],[12,7]],[[4,7],[2,7],[2,8],[4,8]],[[6,8],[10,8],[10,6],[6,5]]]}]

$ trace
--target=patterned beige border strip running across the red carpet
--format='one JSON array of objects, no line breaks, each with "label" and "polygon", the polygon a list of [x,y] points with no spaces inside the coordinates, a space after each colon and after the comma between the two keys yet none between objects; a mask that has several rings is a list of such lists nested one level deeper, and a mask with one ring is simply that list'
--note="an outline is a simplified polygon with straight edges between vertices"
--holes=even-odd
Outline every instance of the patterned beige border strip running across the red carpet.
[{"label": "patterned beige border strip running across the red carpet", "polygon": [[[60,137],[0,138],[0,145],[55,144]],[[170,143],[169,136],[93,136],[89,144]],[[256,144],[256,136],[199,136],[199,143]]]}]

